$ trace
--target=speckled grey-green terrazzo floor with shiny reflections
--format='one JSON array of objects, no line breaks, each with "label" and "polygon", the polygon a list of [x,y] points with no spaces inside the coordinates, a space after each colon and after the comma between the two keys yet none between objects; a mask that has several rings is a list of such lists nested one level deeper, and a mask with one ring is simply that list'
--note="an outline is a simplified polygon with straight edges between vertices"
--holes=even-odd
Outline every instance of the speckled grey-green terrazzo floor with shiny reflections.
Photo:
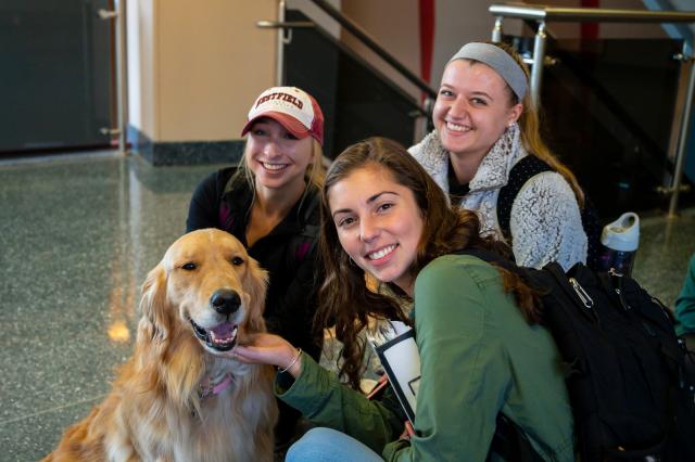
[{"label": "speckled grey-green terrazzo floor with shiny reflections", "polygon": [[[109,390],[129,356],[139,286],[218,166],[111,152],[0,162],[0,461],[36,461]],[[672,304],[695,210],[645,215],[635,277]]]}]

